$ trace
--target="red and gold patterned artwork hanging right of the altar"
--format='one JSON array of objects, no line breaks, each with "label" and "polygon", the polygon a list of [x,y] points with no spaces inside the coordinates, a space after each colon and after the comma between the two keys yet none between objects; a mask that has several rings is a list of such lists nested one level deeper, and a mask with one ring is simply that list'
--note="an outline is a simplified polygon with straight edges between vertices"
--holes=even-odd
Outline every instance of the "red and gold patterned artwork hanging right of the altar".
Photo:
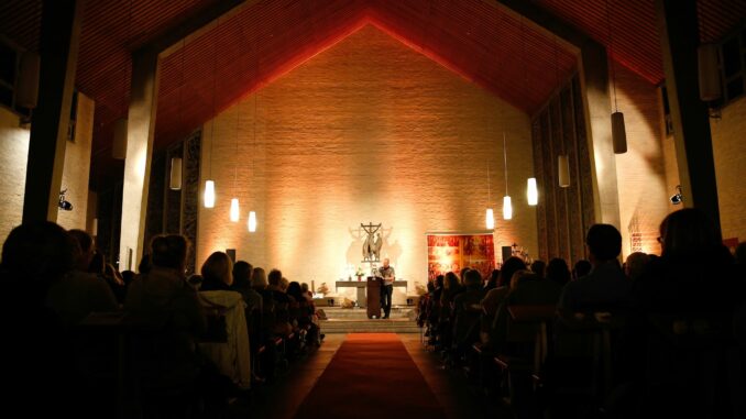
[{"label": "red and gold patterned artwork hanging right of the altar", "polygon": [[478,269],[486,278],[495,268],[495,246],[492,233],[427,234],[428,278],[462,268]]}]

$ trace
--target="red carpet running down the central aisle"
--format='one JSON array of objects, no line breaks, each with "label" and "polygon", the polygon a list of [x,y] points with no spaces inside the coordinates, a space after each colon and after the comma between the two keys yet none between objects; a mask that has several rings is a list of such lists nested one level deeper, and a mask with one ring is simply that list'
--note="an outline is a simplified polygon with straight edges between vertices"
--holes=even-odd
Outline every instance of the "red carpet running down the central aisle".
[{"label": "red carpet running down the central aisle", "polygon": [[395,333],[348,334],[296,418],[445,418]]}]

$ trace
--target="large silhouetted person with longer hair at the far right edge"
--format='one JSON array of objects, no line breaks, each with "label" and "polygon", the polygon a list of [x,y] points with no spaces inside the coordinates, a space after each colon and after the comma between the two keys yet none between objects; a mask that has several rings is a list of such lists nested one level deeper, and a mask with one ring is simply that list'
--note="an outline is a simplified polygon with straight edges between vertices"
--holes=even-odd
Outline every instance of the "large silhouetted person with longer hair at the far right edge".
[{"label": "large silhouetted person with longer hair at the far right edge", "polygon": [[743,415],[746,377],[728,373],[744,365],[746,354],[737,361],[732,352],[732,342],[746,342],[746,337],[739,338],[746,328],[737,326],[743,272],[713,221],[699,209],[668,214],[659,234],[661,255],[649,262],[633,288],[638,339],[629,345],[637,355],[630,365],[639,366],[633,378],[636,388],[644,389],[645,411],[670,417]]}]

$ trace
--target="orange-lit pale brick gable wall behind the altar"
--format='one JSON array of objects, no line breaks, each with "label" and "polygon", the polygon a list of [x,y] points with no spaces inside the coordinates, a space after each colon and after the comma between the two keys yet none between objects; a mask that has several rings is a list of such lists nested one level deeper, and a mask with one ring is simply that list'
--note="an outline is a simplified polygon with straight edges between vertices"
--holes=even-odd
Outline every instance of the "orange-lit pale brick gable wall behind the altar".
[{"label": "orange-lit pale brick gable wall behind the altar", "polygon": [[[525,196],[528,115],[381,31],[363,27],[262,89],[255,144],[254,99],[204,128],[202,184],[216,179],[217,205],[200,208],[198,265],[216,250],[237,249],[239,258],[333,290],[345,266],[362,265],[360,223],[381,222],[382,254],[412,293],[427,278],[426,232],[484,231],[487,163],[496,254],[513,242],[537,254],[536,213]],[[509,222],[500,217],[503,132]],[[233,194],[238,225],[229,221]],[[257,211],[254,234],[245,228],[249,209]]]}]

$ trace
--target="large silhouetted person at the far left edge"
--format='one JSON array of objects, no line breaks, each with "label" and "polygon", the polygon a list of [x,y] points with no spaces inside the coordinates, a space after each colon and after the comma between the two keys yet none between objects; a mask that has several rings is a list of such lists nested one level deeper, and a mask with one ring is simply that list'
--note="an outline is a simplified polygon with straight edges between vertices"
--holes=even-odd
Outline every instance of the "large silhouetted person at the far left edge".
[{"label": "large silhouetted person at the far left edge", "polygon": [[[75,363],[75,345],[61,316],[47,305],[50,288],[79,262],[75,242],[50,221],[14,228],[2,245],[0,403],[26,417],[96,417]],[[106,285],[105,285],[106,286]],[[50,387],[50,385],[53,387]]]}]

